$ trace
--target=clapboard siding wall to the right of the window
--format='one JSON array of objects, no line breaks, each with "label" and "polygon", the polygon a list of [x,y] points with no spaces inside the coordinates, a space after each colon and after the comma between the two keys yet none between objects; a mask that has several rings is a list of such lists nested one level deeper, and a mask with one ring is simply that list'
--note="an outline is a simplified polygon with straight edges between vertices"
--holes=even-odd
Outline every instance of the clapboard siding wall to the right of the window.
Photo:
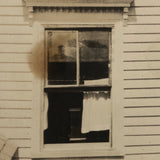
[{"label": "clapboard siding wall to the right of the window", "polygon": [[160,1],[134,0],[124,32],[126,160],[160,159]]}]

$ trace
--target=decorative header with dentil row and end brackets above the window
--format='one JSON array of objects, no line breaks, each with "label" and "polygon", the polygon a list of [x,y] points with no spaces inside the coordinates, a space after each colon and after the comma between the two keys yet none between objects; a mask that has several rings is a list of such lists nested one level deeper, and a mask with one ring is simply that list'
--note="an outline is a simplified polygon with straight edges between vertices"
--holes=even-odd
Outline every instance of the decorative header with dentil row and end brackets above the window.
[{"label": "decorative header with dentil row and end brackets above the window", "polygon": [[119,12],[123,11],[124,24],[128,20],[128,8],[134,0],[24,0],[28,19],[32,24],[36,12]]}]

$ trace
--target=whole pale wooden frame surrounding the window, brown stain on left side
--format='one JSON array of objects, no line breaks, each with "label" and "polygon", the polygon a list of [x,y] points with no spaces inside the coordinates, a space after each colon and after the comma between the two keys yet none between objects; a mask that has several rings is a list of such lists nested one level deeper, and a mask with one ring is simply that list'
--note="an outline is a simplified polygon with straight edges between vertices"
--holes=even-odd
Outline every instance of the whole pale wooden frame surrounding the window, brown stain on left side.
[{"label": "whole pale wooden frame surrounding the window, brown stain on left side", "polygon": [[[109,143],[43,144],[45,29],[47,28],[111,28],[112,34],[112,138]],[[35,21],[33,24],[33,116],[32,158],[123,157],[123,19],[85,24],[53,24]],[[38,56],[36,56],[38,54]],[[36,61],[35,61],[36,57]],[[38,65],[36,65],[36,64]]]}]

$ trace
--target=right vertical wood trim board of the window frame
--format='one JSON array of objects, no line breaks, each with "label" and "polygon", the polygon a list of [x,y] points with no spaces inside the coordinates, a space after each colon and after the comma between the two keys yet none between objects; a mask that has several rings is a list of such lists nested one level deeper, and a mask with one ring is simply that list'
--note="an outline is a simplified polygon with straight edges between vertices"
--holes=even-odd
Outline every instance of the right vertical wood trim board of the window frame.
[{"label": "right vertical wood trim board of the window frame", "polygon": [[123,22],[112,29],[112,147],[123,151]]}]

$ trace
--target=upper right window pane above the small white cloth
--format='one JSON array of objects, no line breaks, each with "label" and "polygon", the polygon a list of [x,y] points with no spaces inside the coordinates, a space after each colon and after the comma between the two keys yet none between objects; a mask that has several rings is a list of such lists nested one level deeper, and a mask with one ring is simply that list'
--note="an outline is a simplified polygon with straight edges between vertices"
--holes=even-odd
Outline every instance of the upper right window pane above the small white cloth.
[{"label": "upper right window pane above the small white cloth", "polygon": [[108,78],[109,32],[79,32],[80,81]]}]

